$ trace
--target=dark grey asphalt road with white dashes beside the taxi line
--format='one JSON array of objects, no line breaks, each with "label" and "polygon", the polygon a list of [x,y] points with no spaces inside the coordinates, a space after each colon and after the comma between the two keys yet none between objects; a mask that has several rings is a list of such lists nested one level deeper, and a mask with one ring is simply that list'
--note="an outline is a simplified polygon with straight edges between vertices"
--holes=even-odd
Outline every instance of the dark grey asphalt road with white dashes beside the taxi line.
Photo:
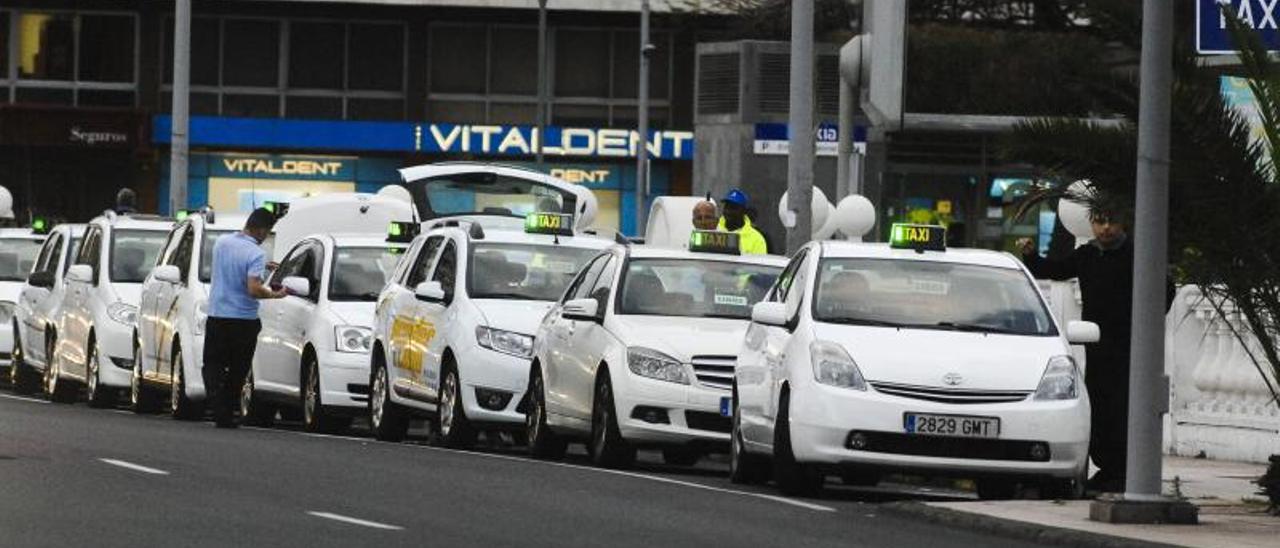
[{"label": "dark grey asphalt road with white dashes beside the taxi line", "polygon": [[1024,545],[877,512],[919,490],[740,489],[636,469],[289,429],[219,430],[0,393],[0,545]]}]

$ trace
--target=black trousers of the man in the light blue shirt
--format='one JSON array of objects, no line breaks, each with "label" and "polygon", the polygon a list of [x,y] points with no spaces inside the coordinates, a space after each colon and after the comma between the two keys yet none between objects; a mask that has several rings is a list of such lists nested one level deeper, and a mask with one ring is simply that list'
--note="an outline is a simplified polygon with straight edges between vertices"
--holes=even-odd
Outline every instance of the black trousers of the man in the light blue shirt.
[{"label": "black trousers of the man in the light blue shirt", "polygon": [[210,318],[205,323],[205,393],[214,419],[227,420],[237,407],[244,376],[253,362],[259,320]]}]

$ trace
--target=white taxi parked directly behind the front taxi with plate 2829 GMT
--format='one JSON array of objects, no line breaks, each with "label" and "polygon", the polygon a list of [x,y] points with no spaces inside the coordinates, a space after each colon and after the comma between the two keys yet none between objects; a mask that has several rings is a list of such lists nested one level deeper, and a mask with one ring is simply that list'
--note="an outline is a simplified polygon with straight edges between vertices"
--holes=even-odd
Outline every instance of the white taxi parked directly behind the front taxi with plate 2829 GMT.
[{"label": "white taxi parked directly behind the front taxi with plate 2829 GMT", "polygon": [[723,449],[751,305],[786,262],[737,250],[736,234],[695,232],[689,251],[618,245],[584,268],[538,328],[530,452],[586,439],[594,462],[627,466],[637,447],[673,465]]}]

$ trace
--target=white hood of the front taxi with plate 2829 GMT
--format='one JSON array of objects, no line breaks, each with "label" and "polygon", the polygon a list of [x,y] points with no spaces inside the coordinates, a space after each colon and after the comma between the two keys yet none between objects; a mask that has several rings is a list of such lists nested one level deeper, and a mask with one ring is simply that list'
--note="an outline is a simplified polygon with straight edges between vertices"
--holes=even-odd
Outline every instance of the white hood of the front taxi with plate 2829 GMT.
[{"label": "white hood of the front taxi with plate 2829 GMT", "polygon": [[[1050,357],[1070,355],[1059,337],[1021,337],[818,324],[844,344],[867,380],[954,389],[1034,391]],[[942,378],[960,375],[960,384]]]}]

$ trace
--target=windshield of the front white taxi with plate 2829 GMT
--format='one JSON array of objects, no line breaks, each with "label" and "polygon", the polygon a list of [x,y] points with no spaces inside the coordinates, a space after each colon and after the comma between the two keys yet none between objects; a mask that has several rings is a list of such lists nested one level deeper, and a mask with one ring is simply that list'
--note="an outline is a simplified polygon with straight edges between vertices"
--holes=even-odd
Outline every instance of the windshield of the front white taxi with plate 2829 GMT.
[{"label": "windshield of the front white taxi with plate 2829 GMT", "polygon": [[1048,310],[1021,270],[883,259],[824,259],[813,314],[818,321],[1056,335]]}]

